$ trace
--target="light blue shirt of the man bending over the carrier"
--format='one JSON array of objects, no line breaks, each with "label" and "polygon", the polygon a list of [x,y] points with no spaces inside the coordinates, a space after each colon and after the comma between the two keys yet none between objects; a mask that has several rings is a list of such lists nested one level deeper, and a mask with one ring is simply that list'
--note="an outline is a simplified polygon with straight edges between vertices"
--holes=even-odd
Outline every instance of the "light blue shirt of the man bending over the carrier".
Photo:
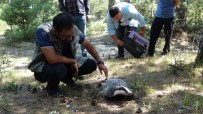
[{"label": "light blue shirt of the man bending over the carrier", "polygon": [[[113,7],[118,7],[121,11],[122,18],[121,20],[123,22],[127,22],[129,19],[134,19],[139,22],[139,25],[143,27],[145,25],[144,17],[135,9],[135,7],[127,2],[119,2],[115,4]],[[109,14],[107,13],[106,17],[107,21],[107,31],[109,35],[115,34],[115,29],[118,28],[119,23],[115,21]],[[129,26],[137,26],[137,23],[129,23]]]}]

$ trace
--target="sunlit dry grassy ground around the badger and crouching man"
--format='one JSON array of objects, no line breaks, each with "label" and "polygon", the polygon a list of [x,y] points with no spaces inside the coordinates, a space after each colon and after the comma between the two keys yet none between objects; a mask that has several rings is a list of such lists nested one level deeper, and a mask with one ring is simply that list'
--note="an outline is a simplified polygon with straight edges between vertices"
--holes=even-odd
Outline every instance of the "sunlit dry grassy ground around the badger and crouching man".
[{"label": "sunlit dry grassy ground around the badger and crouching man", "polygon": [[[140,108],[146,114],[200,114],[203,111],[203,68],[193,66],[196,51],[188,49],[189,44],[180,46],[173,44],[173,53],[165,57],[105,61],[109,75],[124,79],[133,89],[136,99],[130,101],[103,98],[100,83],[105,77],[98,71],[77,81],[78,89],[61,83],[61,89],[67,94],[65,98],[49,97],[40,89],[46,84],[36,82],[33,73],[27,70],[33,44],[2,46],[0,113],[133,114]],[[36,88],[37,93],[33,93],[32,88]]]}]

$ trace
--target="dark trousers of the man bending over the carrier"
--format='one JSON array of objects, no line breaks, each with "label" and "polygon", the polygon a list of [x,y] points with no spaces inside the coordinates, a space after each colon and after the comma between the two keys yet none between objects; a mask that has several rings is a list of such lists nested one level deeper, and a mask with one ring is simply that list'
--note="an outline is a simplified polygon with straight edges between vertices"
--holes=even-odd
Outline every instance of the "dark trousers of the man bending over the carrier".
[{"label": "dark trousers of the man bending over the carrier", "polygon": [[[132,26],[119,26],[118,29],[116,29],[116,36],[119,40],[123,41],[125,37],[126,29],[127,31],[136,31],[137,28]],[[124,47],[119,45],[117,46],[118,46],[118,55],[123,57]]]}]

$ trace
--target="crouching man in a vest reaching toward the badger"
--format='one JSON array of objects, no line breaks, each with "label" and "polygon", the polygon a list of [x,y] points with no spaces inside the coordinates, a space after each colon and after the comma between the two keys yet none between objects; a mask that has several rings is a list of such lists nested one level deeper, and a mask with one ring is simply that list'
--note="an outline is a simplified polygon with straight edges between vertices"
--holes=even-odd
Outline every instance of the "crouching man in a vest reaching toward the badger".
[{"label": "crouching man in a vest reaching toward the badger", "polygon": [[[52,24],[53,23],[53,24]],[[59,83],[73,85],[73,77],[90,74],[98,67],[108,76],[108,69],[96,49],[74,26],[72,16],[59,13],[53,22],[41,24],[36,30],[33,59],[28,69],[39,82],[47,82],[46,91],[51,96],[60,94]],[[76,45],[83,45],[94,59],[76,55]]]}]

